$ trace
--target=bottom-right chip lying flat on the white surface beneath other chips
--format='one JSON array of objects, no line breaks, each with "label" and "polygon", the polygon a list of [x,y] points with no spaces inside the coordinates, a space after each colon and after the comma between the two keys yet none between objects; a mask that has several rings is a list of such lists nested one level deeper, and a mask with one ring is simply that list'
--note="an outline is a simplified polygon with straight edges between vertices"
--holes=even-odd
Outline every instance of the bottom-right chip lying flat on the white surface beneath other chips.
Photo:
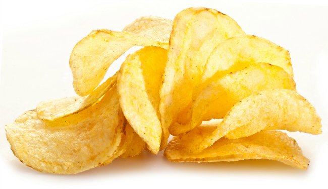
[{"label": "bottom-right chip lying flat on the white surface beneath other chips", "polygon": [[[195,128],[198,135],[213,132],[215,127]],[[174,137],[164,156],[173,162],[240,161],[245,159],[276,160],[299,169],[307,169],[309,159],[303,156],[296,141],[281,131],[260,131],[240,139],[221,138],[198,154],[184,150],[184,142]]]}]

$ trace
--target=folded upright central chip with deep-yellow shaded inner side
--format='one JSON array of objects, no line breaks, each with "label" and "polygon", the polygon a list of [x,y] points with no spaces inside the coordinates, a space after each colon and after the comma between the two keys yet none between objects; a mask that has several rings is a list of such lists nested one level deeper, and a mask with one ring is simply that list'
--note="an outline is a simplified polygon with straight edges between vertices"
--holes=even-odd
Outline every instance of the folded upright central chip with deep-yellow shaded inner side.
[{"label": "folded upright central chip with deep-yellow shaded inner side", "polygon": [[130,54],[118,76],[120,104],[126,119],[152,153],[159,151],[159,87],[167,62],[167,50],[144,47]]}]

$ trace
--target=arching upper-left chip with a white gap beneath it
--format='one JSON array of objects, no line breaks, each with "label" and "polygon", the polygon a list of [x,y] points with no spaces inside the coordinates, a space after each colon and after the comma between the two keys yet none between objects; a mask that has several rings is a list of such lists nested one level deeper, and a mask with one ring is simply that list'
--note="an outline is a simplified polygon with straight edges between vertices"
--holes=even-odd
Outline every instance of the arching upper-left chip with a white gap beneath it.
[{"label": "arching upper-left chip with a white gap beneath it", "polygon": [[79,96],[91,93],[103,79],[108,67],[133,46],[167,48],[168,44],[130,32],[104,29],[93,31],[79,41],[70,57],[75,92]]}]

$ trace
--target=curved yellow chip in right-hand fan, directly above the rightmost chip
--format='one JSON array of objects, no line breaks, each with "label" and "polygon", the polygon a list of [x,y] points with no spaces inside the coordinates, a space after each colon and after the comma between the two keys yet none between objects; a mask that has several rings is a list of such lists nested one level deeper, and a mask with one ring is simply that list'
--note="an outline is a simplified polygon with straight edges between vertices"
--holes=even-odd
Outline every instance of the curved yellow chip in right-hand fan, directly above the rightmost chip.
[{"label": "curved yellow chip in right-hand fan, directly above the rightmost chip", "polygon": [[211,78],[193,101],[190,122],[170,127],[170,133],[185,134],[203,120],[221,119],[238,101],[268,88],[295,90],[295,82],[283,68],[267,63],[252,64],[223,77]]}]

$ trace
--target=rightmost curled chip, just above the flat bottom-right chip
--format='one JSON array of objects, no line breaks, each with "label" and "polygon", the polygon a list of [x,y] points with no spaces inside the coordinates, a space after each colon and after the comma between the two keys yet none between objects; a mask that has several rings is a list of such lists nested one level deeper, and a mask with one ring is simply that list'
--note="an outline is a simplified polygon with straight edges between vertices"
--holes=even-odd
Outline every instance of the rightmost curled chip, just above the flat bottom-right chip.
[{"label": "rightmost curled chip, just above the flat bottom-right chip", "polygon": [[241,100],[227,113],[212,133],[194,136],[194,130],[181,137],[189,152],[199,153],[218,139],[253,135],[261,130],[282,129],[310,134],[321,133],[321,119],[314,107],[289,89],[266,89]]}]

